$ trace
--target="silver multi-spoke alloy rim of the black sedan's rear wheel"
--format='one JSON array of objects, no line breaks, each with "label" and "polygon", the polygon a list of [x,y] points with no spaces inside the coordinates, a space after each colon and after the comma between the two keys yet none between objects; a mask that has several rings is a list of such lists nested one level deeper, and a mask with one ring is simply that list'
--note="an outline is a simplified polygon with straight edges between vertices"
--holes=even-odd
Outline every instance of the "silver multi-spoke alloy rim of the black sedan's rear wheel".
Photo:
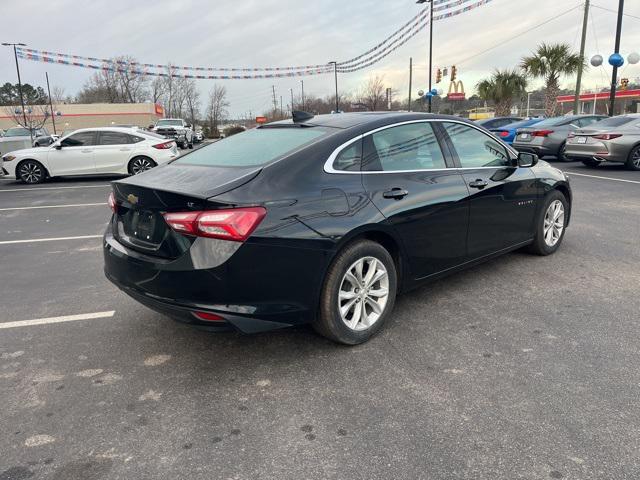
[{"label": "silver multi-spoke alloy rim of the black sedan's rear wheel", "polygon": [[354,262],[342,277],[338,310],[351,330],[370,328],[382,316],[389,298],[389,274],[375,257]]}]

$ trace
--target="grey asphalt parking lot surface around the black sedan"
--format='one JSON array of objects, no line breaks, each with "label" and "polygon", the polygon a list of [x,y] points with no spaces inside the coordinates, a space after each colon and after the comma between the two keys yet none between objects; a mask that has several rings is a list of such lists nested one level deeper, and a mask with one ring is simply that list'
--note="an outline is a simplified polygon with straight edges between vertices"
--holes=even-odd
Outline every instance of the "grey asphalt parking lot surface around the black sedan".
[{"label": "grey asphalt parking lot surface around the black sedan", "polygon": [[640,175],[561,167],[555,255],[406,294],[352,348],[162,318],[104,278],[108,181],[0,180],[0,480],[640,477]]}]

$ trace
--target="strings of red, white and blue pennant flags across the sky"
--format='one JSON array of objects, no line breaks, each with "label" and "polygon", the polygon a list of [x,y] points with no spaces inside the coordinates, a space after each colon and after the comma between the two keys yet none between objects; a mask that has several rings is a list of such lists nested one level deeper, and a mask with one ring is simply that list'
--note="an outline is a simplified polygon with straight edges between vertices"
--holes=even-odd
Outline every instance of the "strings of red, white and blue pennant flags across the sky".
[{"label": "strings of red, white and blue pennant flags across the sky", "polygon": [[[486,5],[491,1],[492,0],[433,0],[434,12],[444,12],[438,15],[434,15],[433,20],[438,21],[461,15],[465,12]],[[454,9],[462,5],[465,6],[462,8]],[[355,72],[367,68],[387,57],[398,48],[403,46],[405,43],[407,43],[418,32],[426,28],[426,26],[429,24],[428,12],[428,8],[421,10],[407,23],[394,31],[391,35],[387,36],[382,42],[362,53],[361,55],[353,57],[349,60],[337,62],[337,71],[341,73]],[[333,65],[331,64],[301,65],[289,67],[196,67],[139,63],[123,59],[88,57],[62,52],[36,50],[25,47],[18,47],[16,51],[19,58],[35,62],[53,63],[110,72],[130,72],[143,76],[172,77],[196,80],[272,79],[322,75],[333,71]]]}]

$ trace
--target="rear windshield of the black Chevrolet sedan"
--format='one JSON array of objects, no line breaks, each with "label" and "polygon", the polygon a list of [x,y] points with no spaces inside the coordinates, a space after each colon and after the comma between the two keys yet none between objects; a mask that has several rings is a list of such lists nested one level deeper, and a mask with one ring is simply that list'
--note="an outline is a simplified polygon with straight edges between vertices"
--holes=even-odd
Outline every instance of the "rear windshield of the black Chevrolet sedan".
[{"label": "rear windshield of the black Chevrolet sedan", "polygon": [[328,135],[313,128],[254,128],[219,140],[178,158],[174,163],[211,167],[266,165]]}]

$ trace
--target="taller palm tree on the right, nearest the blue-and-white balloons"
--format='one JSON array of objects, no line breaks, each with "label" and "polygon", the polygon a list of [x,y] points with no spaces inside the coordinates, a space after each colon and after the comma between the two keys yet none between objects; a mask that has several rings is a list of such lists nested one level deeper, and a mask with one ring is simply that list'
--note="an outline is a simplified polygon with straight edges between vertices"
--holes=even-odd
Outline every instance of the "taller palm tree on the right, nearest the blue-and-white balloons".
[{"label": "taller palm tree on the right, nearest the blue-and-white balloons", "polygon": [[547,117],[552,117],[556,111],[556,98],[560,92],[560,77],[570,76],[586,68],[586,64],[580,55],[571,51],[571,47],[566,43],[547,45],[542,43],[532,55],[524,57],[520,62],[520,67],[527,75],[544,79],[545,101],[544,109]]}]

